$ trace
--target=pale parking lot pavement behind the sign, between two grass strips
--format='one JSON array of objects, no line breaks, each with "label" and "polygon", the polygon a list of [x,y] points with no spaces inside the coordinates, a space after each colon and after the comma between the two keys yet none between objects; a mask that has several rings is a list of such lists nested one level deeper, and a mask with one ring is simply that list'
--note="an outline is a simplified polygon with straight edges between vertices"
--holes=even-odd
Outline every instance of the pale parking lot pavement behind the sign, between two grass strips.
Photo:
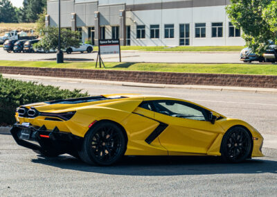
[{"label": "pale parking lot pavement behind the sign, between two grass strips", "polygon": [[[149,52],[122,51],[123,62],[242,63],[239,52]],[[55,60],[55,53],[7,53],[0,48],[0,60]],[[96,61],[97,53],[64,54],[65,60]],[[118,55],[102,55],[104,62],[117,62]]]}]

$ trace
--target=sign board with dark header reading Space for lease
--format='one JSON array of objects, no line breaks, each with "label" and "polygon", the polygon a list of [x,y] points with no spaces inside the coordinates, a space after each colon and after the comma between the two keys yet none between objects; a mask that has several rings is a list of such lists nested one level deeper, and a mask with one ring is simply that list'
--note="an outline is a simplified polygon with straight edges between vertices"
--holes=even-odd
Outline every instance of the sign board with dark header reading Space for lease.
[{"label": "sign board with dark header reading Space for lease", "polygon": [[99,40],[100,55],[120,54],[119,40]]}]

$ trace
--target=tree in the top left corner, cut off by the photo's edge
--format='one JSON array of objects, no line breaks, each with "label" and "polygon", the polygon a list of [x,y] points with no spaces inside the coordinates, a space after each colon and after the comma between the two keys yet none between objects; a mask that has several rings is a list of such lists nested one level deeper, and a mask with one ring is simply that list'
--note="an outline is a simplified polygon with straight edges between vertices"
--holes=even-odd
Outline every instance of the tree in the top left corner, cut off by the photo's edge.
[{"label": "tree in the top left corner, cut off by the photo's edge", "polygon": [[9,0],[0,0],[0,22],[17,22],[17,9],[12,6]]}]

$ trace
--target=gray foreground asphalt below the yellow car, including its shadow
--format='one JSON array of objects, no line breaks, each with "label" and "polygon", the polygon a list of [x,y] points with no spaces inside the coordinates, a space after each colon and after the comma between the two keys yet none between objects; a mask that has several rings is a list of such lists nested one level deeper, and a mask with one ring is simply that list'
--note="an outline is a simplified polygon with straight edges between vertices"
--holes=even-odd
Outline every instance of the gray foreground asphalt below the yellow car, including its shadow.
[{"label": "gray foreground asphalt below the yellow car, including its shadow", "polygon": [[47,158],[0,135],[0,196],[276,196],[277,151],[242,164],[219,157],[125,157],[88,166]]}]

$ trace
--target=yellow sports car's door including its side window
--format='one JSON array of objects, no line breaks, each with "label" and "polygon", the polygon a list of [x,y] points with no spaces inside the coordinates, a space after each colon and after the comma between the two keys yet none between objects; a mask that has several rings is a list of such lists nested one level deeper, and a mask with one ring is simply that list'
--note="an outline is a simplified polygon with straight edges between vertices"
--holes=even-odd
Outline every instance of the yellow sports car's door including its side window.
[{"label": "yellow sports car's door including its side window", "polygon": [[222,127],[208,121],[208,111],[183,101],[153,101],[154,119],[168,126],[159,135],[169,155],[206,154]]}]

